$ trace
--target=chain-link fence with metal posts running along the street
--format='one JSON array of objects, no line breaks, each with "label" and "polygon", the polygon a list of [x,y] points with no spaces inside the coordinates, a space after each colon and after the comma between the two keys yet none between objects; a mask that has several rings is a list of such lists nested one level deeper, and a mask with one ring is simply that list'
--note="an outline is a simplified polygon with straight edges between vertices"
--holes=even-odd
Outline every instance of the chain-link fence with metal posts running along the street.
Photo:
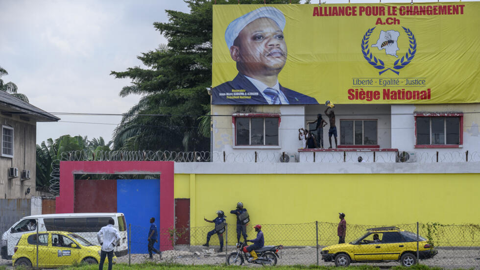
[{"label": "chain-link fence with metal posts running along the street", "polygon": [[[38,232],[37,237],[36,230],[30,230],[29,226],[25,224],[24,227],[11,231],[7,239],[3,239],[2,257],[15,254],[16,265],[25,264],[33,267],[37,264],[37,256],[40,267],[81,262],[98,263],[100,260],[98,228],[58,227],[55,229],[70,232]],[[275,257],[277,265],[332,266],[336,263],[336,256],[344,253],[347,254],[348,261],[355,264],[371,264],[377,261],[376,263],[380,263],[377,266],[390,267],[402,262],[407,265],[414,264],[419,258],[420,264],[428,266],[480,269],[478,224],[411,223],[391,226],[347,224],[344,238],[347,245],[337,245],[339,243],[337,226],[337,223],[317,221],[302,224],[264,224],[262,231],[265,246],[272,246],[273,249],[269,248],[268,251],[267,248],[266,252],[259,252],[259,258],[266,258],[265,253],[270,253],[270,256]],[[234,257],[240,256],[244,258],[242,259],[244,264],[249,264],[250,254],[241,250],[239,252],[236,246],[239,242],[238,228],[236,224],[228,224],[220,237],[214,225],[160,229],[157,241],[149,243],[149,227],[129,225],[120,229],[120,241],[114,247],[117,255],[114,261],[128,264],[154,261],[221,265],[227,262],[230,254],[235,253]],[[252,226],[245,228],[246,239],[255,239],[256,232]],[[239,231],[240,242],[243,242],[241,227]],[[208,242],[207,236],[210,236]],[[208,246],[205,246],[207,243]],[[152,244],[152,258],[149,255],[149,244]],[[156,250],[162,254],[157,254]],[[267,262],[265,259],[264,263],[273,264],[271,257],[269,260]],[[11,265],[7,260],[2,260],[1,264]]]}]

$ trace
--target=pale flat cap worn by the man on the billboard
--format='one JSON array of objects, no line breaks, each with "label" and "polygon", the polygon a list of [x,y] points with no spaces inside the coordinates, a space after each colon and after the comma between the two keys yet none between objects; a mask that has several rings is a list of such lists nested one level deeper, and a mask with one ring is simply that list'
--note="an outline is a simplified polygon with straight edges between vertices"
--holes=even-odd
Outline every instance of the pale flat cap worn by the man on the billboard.
[{"label": "pale flat cap worn by the man on the billboard", "polygon": [[272,19],[282,31],[285,28],[285,16],[280,10],[271,6],[257,8],[235,19],[227,26],[227,30],[225,30],[225,41],[227,42],[228,49],[232,47],[233,42],[245,26],[260,18]]}]

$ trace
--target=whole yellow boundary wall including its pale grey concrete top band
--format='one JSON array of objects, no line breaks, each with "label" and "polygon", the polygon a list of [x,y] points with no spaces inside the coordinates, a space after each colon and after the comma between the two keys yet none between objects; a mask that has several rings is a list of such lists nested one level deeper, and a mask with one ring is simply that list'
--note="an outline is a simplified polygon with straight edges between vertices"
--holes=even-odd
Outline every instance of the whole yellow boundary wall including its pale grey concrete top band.
[{"label": "whole yellow boundary wall including its pale grey concrete top band", "polygon": [[[314,228],[314,221],[335,224],[338,212],[346,213],[349,224],[480,223],[480,210],[475,207],[480,204],[476,195],[480,162],[448,167],[415,163],[312,165],[175,164],[174,196],[190,198],[190,226],[197,227],[192,229],[192,245],[202,244],[194,243],[195,239],[203,241],[201,234],[207,228],[200,227],[211,225],[203,218],[213,219],[216,210],[225,211],[227,223],[235,224],[235,216],[229,212],[238,201],[248,210],[250,225],[297,224],[289,225],[290,230]],[[268,231],[269,241],[286,239],[283,233],[287,232],[281,231],[281,226],[265,227],[276,228]],[[229,228],[229,242],[236,241],[233,229]],[[248,234],[254,235],[250,226]],[[215,244],[217,240],[212,241]]]}]

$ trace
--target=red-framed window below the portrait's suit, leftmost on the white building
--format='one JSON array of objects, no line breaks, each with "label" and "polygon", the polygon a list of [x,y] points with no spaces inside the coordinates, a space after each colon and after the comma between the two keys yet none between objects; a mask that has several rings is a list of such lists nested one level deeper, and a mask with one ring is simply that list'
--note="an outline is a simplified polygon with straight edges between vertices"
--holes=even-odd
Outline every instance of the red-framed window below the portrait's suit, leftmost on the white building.
[{"label": "red-framed window below the portrait's suit, leftmost on the white building", "polygon": [[278,146],[278,117],[235,118],[236,146]]}]

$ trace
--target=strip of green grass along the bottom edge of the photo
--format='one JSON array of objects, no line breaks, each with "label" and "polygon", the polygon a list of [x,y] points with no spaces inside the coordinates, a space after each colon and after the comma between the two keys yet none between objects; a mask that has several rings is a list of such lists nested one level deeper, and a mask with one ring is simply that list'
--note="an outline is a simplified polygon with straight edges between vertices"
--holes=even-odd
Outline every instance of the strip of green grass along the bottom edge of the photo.
[{"label": "strip of green grass along the bottom edge of the photo", "polygon": [[[103,267],[103,269],[107,269],[107,265]],[[113,266],[113,270],[221,270],[221,269],[249,269],[245,268],[244,266],[225,266],[225,265],[181,265],[181,264],[174,264],[174,263],[153,263],[153,262],[146,262],[143,264],[132,264],[128,266],[128,264],[116,264]],[[342,268],[337,268],[335,266],[305,266],[305,265],[292,265],[292,266],[275,266],[273,267],[275,270],[307,270],[307,269],[318,269],[318,270],[341,270]],[[402,266],[394,266],[390,268],[391,270],[443,270],[440,267],[429,267],[425,265],[415,265],[412,267],[402,267]],[[0,270],[4,270],[1,269]],[[78,266],[70,266],[64,267],[62,270],[98,270],[98,265],[78,265]],[[380,270],[380,268],[376,266],[368,266],[368,265],[359,265],[359,266],[349,266],[345,268],[345,270]]]}]

